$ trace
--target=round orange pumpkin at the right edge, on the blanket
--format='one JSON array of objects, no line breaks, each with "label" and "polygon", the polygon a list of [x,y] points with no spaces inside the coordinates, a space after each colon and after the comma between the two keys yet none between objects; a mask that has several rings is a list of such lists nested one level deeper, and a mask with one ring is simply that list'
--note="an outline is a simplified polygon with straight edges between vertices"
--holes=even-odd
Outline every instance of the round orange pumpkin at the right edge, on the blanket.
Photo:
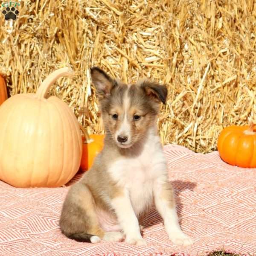
[{"label": "round orange pumpkin at the right edge, on the blanket", "polygon": [[256,168],[256,125],[224,128],[218,138],[218,151],[231,165]]}]

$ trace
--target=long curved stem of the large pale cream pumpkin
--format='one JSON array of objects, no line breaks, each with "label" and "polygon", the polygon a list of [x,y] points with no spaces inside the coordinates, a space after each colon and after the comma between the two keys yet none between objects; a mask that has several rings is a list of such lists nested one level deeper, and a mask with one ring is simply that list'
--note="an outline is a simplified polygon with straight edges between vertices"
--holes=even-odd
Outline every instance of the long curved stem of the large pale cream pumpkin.
[{"label": "long curved stem of the large pale cream pumpkin", "polygon": [[38,99],[44,99],[50,87],[58,78],[61,76],[73,76],[74,74],[74,71],[68,67],[63,67],[53,71],[51,74],[49,74],[49,76],[47,76],[46,79],[44,79],[43,83],[37,90],[36,96]]}]

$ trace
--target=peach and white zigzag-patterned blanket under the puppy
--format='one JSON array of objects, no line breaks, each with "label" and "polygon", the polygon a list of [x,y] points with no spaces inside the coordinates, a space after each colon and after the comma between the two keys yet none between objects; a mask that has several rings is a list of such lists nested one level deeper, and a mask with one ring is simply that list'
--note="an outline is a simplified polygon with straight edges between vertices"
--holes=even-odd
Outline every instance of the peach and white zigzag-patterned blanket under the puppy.
[{"label": "peach and white zigzag-patterned blanket under the puppy", "polygon": [[[256,169],[230,166],[218,152],[195,154],[176,145],[164,149],[180,224],[195,241],[193,246],[173,245],[155,209],[143,223],[146,247],[67,239],[60,232],[58,219],[68,187],[17,189],[0,181],[0,255],[195,256],[223,247],[242,254],[256,253]],[[76,175],[73,182],[80,177]]]}]

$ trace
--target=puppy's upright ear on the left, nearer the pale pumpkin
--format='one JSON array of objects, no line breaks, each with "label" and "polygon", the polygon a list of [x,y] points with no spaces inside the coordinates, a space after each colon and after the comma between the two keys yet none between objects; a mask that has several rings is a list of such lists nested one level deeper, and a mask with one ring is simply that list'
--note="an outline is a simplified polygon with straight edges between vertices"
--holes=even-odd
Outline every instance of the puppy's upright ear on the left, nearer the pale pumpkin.
[{"label": "puppy's upright ear on the left, nearer the pale pumpkin", "polygon": [[97,94],[103,97],[110,95],[111,89],[116,86],[116,81],[99,67],[92,67],[90,71],[92,83],[96,88]]}]

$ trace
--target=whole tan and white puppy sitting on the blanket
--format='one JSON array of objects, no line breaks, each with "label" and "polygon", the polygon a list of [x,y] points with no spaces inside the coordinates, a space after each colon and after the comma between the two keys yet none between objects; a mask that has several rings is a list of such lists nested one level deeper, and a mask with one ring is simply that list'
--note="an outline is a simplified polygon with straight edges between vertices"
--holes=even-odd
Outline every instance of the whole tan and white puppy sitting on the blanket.
[{"label": "whole tan and white puppy sitting on the blanket", "polygon": [[167,89],[151,81],[123,84],[97,67],[91,77],[99,97],[106,137],[91,169],[64,201],[60,227],[77,241],[101,239],[146,245],[139,221],[155,204],[169,239],[189,245],[180,229],[166,158],[157,136],[157,114]]}]

